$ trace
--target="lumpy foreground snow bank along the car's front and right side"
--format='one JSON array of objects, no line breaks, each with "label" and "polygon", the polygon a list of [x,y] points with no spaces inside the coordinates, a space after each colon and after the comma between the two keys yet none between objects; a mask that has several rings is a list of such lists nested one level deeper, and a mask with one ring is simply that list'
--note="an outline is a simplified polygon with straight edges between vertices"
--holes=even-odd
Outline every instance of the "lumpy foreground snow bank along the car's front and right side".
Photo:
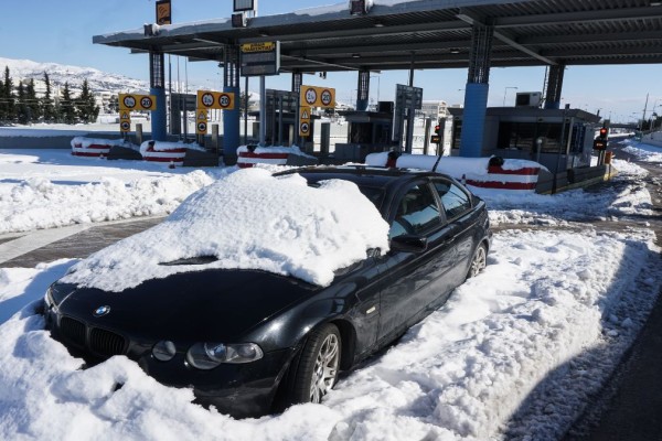
[{"label": "lumpy foreground snow bank along the car's front and right side", "polygon": [[[483,273],[341,379],[323,405],[256,420],[193,405],[190,389],[162,386],[125,357],[79,369],[31,304],[0,322],[0,439],[496,440],[536,387],[565,373],[572,387],[547,389],[558,405],[519,428],[558,439],[618,359],[598,353],[585,364],[584,354],[608,335],[632,337],[636,311],[660,289],[651,244],[650,235],[590,230],[499,233]],[[0,308],[43,295],[67,265],[0,270],[0,293],[12,287]],[[656,272],[634,289],[647,266]]]}]

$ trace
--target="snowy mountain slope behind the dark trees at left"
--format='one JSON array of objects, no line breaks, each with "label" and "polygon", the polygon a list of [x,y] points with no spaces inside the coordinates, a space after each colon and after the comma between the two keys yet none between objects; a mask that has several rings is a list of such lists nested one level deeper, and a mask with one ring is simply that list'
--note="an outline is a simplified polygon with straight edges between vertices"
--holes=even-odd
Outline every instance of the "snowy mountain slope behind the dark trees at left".
[{"label": "snowy mountain slope behind the dark trees at left", "polygon": [[94,92],[109,90],[119,92],[148,92],[149,83],[129,78],[124,75],[109,74],[92,67],[67,66],[57,63],[36,63],[30,60],[12,60],[0,57],[0,78],[4,75],[4,66],[9,67],[9,75],[14,84],[20,79],[34,78],[41,82],[44,72],[49,74],[53,86],[63,86],[68,82],[72,89],[78,88],[84,79],[87,79]]}]

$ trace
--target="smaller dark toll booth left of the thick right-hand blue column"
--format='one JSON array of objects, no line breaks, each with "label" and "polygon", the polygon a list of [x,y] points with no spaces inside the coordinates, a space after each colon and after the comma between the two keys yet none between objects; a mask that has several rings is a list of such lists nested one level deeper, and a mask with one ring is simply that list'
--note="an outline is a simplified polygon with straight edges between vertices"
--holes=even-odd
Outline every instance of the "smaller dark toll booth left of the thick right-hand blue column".
[{"label": "smaller dark toll booth left of the thick right-hand blue column", "polygon": [[335,144],[334,158],[363,162],[370,153],[393,149],[393,103],[382,101],[377,111],[340,112],[348,122],[348,142]]}]

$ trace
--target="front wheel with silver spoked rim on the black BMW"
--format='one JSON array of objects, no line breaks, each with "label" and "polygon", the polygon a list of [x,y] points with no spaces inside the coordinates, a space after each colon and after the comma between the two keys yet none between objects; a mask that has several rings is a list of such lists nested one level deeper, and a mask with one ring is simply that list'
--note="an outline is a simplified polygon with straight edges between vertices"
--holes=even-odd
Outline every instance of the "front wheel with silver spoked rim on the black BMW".
[{"label": "front wheel with silver spoked rim on the black BMW", "polygon": [[325,323],[311,331],[291,376],[289,404],[321,402],[338,380],[342,341],[338,326]]}]

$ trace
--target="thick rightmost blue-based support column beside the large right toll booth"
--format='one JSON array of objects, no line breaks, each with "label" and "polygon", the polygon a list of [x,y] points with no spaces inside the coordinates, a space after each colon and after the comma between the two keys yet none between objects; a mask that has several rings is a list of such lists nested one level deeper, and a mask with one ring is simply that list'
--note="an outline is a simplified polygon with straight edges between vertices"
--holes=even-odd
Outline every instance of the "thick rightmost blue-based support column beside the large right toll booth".
[{"label": "thick rightmost blue-based support column beside the large right toll booth", "polygon": [[479,158],[482,155],[493,35],[493,26],[473,24],[469,78],[465,88],[460,157]]}]

